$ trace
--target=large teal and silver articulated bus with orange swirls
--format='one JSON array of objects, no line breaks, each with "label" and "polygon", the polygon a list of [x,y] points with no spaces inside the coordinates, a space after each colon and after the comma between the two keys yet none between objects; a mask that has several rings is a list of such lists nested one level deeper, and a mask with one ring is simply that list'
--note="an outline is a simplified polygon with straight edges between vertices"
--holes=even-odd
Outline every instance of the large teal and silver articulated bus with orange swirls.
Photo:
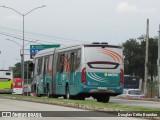
[{"label": "large teal and silver articulated bus with orange swirls", "polygon": [[[79,44],[38,52],[33,70],[32,92],[37,96],[109,102],[123,93],[124,59],[121,46]],[[33,69],[34,68],[34,69]]]}]

